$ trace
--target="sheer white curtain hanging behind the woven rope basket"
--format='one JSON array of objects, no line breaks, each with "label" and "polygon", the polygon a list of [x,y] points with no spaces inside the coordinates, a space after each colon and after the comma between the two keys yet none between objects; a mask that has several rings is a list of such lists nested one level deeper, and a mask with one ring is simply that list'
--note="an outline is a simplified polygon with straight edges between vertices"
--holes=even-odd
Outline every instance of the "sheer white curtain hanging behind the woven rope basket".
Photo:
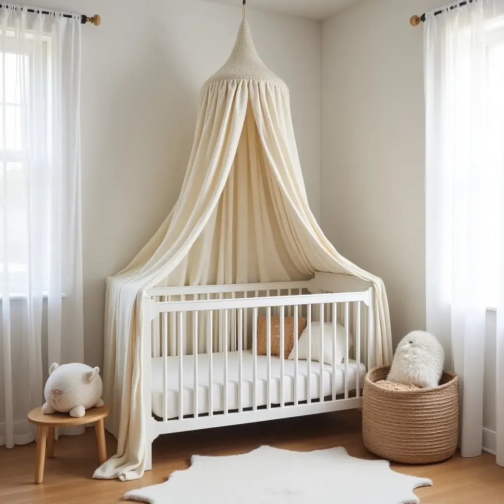
[{"label": "sheer white curtain hanging behind the woven rope basket", "polygon": [[[461,453],[481,454],[486,310],[497,309],[497,463],[504,465],[504,2],[424,24],[427,330],[461,376]],[[451,362],[450,362],[451,360]]]}]

